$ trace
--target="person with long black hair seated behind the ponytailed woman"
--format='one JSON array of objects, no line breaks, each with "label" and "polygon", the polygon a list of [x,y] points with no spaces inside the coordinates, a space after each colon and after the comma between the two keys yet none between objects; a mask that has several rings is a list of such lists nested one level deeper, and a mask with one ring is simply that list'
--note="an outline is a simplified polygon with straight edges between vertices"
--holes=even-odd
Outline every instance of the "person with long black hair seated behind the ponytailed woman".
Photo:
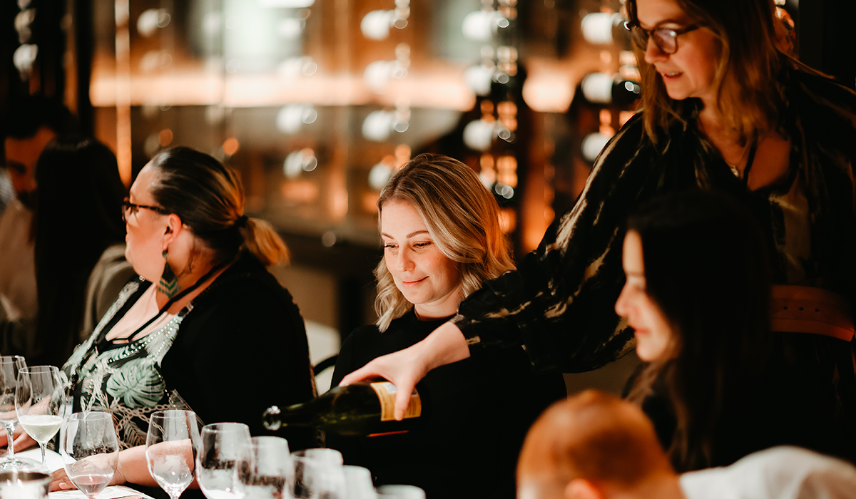
[{"label": "person with long black hair seated behind the ponytailed woman", "polygon": [[[45,146],[36,183],[39,321],[27,360],[62,365],[80,342],[80,331],[103,315],[100,297],[109,306],[132,275],[123,255],[110,256],[124,252],[121,209],[128,189],[113,152],[97,140],[76,136]],[[89,287],[95,268],[98,276]]]}]

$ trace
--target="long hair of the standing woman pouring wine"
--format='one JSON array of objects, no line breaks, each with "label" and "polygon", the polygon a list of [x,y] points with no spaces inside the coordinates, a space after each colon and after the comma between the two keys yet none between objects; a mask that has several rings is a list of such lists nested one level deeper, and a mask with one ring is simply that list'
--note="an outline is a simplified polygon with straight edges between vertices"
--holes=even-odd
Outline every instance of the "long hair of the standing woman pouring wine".
[{"label": "long hair of the standing woman pouring wine", "polygon": [[[627,0],[631,26],[639,23],[638,0]],[[716,105],[742,140],[775,128],[783,108],[782,68],[806,69],[789,52],[787,33],[776,19],[773,0],[675,0],[693,21],[716,37]],[[680,41],[679,41],[680,46]],[[641,108],[645,133],[657,142],[657,130],[668,130],[684,118],[686,101],[669,98],[662,77],[645,62],[645,47],[633,44],[642,75]],[[815,72],[816,73],[816,72]],[[690,100],[690,99],[687,99]],[[728,112],[724,112],[728,111]]]}]

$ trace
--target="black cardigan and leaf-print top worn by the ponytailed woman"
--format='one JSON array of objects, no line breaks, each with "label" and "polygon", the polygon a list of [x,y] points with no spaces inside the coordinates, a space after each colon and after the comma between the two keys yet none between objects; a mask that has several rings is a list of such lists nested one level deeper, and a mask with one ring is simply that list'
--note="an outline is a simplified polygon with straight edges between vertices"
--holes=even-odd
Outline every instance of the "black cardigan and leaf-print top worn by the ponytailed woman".
[{"label": "black cardigan and leaf-print top worn by the ponytailed woman", "polygon": [[[114,414],[122,448],[146,443],[151,413],[190,409],[202,423],[236,421],[266,434],[265,407],[314,396],[306,330],[288,290],[249,253],[163,327],[132,342],[106,335],[151,286],[122,289],[63,371],[74,410]],[[283,435],[292,449],[313,446],[306,431]]]}]

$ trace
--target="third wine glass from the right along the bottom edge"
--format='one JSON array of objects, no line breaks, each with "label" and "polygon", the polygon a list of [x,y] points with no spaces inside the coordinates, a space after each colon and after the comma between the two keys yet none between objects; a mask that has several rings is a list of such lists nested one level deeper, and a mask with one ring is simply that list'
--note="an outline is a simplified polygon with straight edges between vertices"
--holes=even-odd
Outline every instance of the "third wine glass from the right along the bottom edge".
[{"label": "third wine glass from the right along the bottom edge", "polygon": [[295,499],[340,499],[344,493],[342,453],[335,449],[306,449],[291,453]]}]

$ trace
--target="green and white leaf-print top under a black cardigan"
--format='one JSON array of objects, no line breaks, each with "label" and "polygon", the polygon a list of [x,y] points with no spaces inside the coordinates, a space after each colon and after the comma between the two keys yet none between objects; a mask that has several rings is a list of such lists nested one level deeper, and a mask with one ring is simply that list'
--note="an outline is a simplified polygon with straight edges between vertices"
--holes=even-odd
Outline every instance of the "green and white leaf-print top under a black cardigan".
[{"label": "green and white leaf-print top under a black cardigan", "polygon": [[134,305],[150,285],[140,277],[122,288],[89,339],[62,366],[74,389],[74,410],[113,413],[122,449],[146,444],[149,417],[155,411],[190,409],[181,395],[167,389],[159,369],[181,320],[193,310],[192,303],[137,340],[112,343],[105,339],[117,314]]}]

